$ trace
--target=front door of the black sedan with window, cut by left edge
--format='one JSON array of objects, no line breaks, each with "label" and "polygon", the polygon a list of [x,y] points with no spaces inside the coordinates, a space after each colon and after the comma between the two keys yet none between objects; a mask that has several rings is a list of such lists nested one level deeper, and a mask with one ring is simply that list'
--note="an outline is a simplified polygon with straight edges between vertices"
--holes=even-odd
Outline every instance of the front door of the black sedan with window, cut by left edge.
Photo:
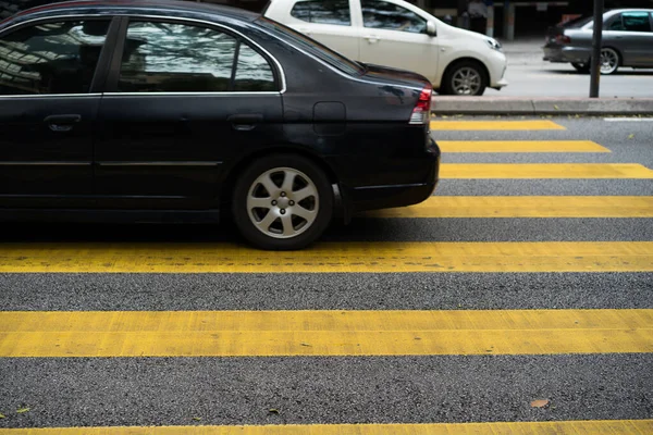
[{"label": "front door of the black sedan with window, cut by left edge", "polygon": [[101,98],[94,77],[108,60],[110,27],[110,20],[59,18],[0,35],[0,207],[90,203]]}]

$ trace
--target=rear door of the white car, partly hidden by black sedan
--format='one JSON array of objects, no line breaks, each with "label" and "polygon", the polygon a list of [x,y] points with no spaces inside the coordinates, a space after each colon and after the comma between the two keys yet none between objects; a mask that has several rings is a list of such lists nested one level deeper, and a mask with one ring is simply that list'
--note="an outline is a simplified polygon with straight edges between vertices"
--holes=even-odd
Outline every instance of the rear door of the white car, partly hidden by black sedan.
[{"label": "rear door of the white car, partly hidden by black sedan", "polygon": [[287,24],[346,58],[358,60],[360,27],[352,21],[356,0],[299,0],[291,3]]}]

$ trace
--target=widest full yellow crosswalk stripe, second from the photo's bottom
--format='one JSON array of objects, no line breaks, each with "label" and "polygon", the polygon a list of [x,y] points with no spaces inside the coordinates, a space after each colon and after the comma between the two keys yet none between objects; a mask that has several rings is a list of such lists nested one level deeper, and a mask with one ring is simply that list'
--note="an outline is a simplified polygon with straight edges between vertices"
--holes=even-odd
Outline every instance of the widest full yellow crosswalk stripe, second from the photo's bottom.
[{"label": "widest full yellow crosswalk stripe, second from the photo's bottom", "polygon": [[653,310],[0,313],[0,357],[653,352]]}]

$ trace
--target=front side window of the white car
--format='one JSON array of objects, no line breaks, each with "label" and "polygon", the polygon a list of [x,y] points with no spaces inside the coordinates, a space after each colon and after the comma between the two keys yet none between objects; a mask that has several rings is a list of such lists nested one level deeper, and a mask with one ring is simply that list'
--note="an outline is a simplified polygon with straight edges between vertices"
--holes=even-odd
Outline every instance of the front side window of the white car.
[{"label": "front side window of the white car", "polygon": [[381,0],[362,0],[362,23],[370,28],[426,34],[427,21],[397,4]]}]

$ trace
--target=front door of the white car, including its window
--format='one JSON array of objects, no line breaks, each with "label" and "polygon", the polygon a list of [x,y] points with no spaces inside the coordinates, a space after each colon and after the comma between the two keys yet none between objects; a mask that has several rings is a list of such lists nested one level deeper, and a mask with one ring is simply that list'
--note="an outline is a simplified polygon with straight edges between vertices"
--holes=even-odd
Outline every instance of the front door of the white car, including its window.
[{"label": "front door of the white car, including its window", "polygon": [[360,60],[415,71],[434,80],[438,39],[427,34],[427,20],[384,0],[361,0]]}]

